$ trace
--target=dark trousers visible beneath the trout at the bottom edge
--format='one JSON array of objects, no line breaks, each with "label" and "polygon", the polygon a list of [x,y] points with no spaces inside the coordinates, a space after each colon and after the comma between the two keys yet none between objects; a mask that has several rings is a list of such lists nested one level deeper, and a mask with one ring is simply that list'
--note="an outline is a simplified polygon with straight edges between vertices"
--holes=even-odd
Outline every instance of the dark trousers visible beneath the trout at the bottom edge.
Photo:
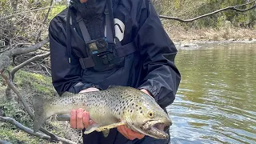
[{"label": "dark trousers visible beneath the trout at the bottom edge", "polygon": [[94,131],[91,134],[83,134],[84,144],[168,144],[169,140],[156,139],[145,136],[142,139],[128,140],[117,129],[111,129],[110,134],[105,138],[102,133]]}]

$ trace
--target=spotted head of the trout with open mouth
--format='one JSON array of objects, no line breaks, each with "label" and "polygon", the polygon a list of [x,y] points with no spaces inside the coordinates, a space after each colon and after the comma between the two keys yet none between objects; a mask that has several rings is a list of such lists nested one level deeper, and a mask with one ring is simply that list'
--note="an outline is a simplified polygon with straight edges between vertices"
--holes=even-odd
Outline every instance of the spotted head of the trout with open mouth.
[{"label": "spotted head of the trout with open mouth", "polygon": [[140,93],[141,98],[134,100],[126,113],[127,126],[153,138],[168,139],[166,133],[172,122],[166,112],[151,96]]}]

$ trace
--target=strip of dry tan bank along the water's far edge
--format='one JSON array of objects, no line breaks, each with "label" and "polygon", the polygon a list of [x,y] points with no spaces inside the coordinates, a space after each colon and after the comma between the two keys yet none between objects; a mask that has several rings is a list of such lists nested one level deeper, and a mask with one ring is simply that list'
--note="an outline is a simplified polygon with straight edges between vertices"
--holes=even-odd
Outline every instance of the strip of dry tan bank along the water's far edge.
[{"label": "strip of dry tan bank along the water's far edge", "polygon": [[256,42],[256,29],[227,27],[186,30],[179,26],[165,26],[165,29],[178,46],[195,46],[197,43],[206,42]]}]

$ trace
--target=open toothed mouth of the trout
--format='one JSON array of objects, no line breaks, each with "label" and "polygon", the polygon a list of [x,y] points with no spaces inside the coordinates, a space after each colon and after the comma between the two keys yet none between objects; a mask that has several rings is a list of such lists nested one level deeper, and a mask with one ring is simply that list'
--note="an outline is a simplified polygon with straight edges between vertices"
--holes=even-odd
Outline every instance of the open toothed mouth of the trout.
[{"label": "open toothed mouth of the trout", "polygon": [[142,126],[142,130],[153,138],[168,139],[170,136],[166,132],[170,125],[171,122],[148,121]]}]

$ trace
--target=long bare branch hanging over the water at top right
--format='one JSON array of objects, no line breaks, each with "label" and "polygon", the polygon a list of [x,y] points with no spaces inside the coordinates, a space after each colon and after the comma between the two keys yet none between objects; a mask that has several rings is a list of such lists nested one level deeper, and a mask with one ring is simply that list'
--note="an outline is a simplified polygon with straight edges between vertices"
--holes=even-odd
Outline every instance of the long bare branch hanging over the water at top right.
[{"label": "long bare branch hanging over the water at top right", "polygon": [[[256,2],[256,1],[254,0],[252,2]],[[197,18],[192,18],[192,19],[186,19],[185,20],[185,19],[182,19],[182,18],[169,17],[169,16],[165,16],[165,15],[159,15],[159,18],[173,19],[173,20],[176,20],[176,21],[179,21],[179,22],[193,22],[193,21],[195,21],[195,20],[197,20],[199,18],[204,18],[204,17],[207,17],[207,16],[212,15],[212,14],[217,14],[217,13],[219,13],[221,11],[224,11],[224,10],[235,10],[235,11],[239,11],[239,12],[244,12],[244,11],[247,11],[247,10],[252,10],[252,9],[254,9],[256,7],[256,5],[251,6],[250,8],[244,9],[244,10],[237,8],[237,7],[240,7],[240,6],[246,6],[246,5],[248,5],[248,4],[252,3],[252,2],[248,2],[248,3],[242,4],[242,5],[238,5],[238,6],[228,6],[226,8],[223,8],[223,9],[220,9],[220,10],[215,10],[214,12],[211,12],[209,14],[203,14],[201,16],[198,16]]]}]

